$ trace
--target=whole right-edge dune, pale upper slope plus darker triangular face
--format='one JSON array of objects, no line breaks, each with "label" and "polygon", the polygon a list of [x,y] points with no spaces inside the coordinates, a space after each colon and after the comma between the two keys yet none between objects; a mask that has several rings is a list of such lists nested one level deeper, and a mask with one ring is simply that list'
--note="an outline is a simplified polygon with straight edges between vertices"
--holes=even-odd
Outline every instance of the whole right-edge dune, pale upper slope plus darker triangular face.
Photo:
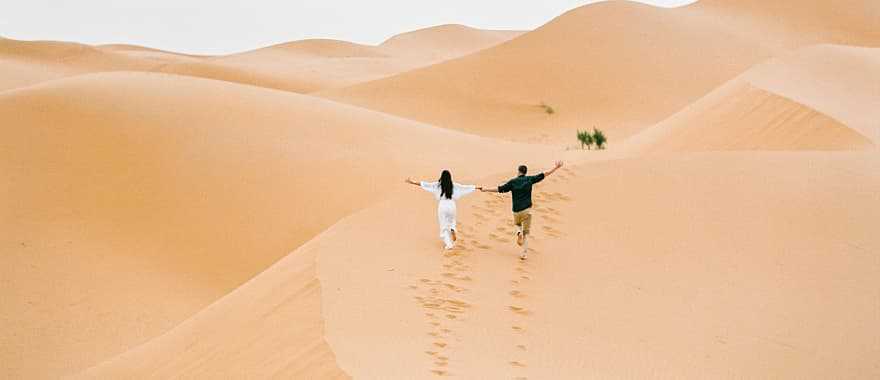
[{"label": "whole right-edge dune, pale upper slope plus darker triangular face", "polygon": [[629,139],[623,150],[632,154],[876,147],[878,51],[822,45],[772,59]]}]

